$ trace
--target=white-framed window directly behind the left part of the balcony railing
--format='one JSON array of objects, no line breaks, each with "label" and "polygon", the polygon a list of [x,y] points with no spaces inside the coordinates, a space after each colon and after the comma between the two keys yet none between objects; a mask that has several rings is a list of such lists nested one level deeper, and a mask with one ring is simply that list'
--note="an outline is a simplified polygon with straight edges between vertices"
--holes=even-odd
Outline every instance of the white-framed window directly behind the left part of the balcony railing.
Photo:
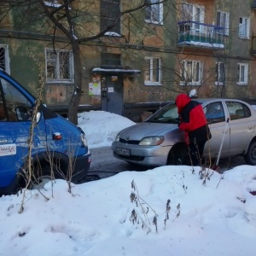
[{"label": "white-framed window directly behind the left part of the balcony railing", "polygon": [[[200,23],[204,23],[205,10],[204,7],[194,5],[191,3],[181,3],[180,8],[180,21],[189,21],[179,27],[180,32],[192,31],[203,32],[203,26]],[[194,21],[190,23],[190,21]]]}]

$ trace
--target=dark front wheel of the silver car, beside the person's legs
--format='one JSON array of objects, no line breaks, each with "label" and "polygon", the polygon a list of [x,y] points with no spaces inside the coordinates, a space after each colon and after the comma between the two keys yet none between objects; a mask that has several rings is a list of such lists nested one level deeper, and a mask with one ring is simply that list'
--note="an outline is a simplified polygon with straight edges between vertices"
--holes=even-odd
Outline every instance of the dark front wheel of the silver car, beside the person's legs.
[{"label": "dark front wheel of the silver car, beside the person's legs", "polygon": [[188,163],[188,146],[184,143],[173,146],[168,154],[167,166],[185,166]]}]

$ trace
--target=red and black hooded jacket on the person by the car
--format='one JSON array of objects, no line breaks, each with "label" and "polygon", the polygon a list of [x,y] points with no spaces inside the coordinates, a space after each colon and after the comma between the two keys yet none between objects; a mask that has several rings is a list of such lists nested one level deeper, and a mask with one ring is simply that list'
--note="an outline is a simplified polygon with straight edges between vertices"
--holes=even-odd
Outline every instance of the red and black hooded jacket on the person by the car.
[{"label": "red and black hooded jacket on the person by the car", "polygon": [[189,135],[190,140],[207,141],[211,136],[201,104],[191,101],[186,94],[180,94],[176,98],[176,105],[181,118],[178,127]]}]

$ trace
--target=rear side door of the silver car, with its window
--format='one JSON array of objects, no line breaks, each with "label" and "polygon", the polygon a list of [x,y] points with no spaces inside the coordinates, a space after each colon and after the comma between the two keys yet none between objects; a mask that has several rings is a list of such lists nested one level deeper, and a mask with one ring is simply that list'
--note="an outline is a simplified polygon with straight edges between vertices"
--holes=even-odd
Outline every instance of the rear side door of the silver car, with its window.
[{"label": "rear side door of the silver car, with its window", "polygon": [[253,137],[255,120],[243,102],[226,101],[230,114],[230,154],[241,154]]}]

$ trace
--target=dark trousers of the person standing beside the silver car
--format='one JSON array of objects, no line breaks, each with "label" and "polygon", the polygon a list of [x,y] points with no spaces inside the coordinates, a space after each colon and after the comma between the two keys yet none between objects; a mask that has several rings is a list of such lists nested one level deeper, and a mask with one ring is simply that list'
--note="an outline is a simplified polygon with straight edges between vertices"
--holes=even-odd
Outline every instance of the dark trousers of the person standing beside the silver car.
[{"label": "dark trousers of the person standing beside the silver car", "polygon": [[205,142],[197,143],[196,140],[189,143],[189,156],[192,166],[201,166],[203,164],[203,152]]}]

